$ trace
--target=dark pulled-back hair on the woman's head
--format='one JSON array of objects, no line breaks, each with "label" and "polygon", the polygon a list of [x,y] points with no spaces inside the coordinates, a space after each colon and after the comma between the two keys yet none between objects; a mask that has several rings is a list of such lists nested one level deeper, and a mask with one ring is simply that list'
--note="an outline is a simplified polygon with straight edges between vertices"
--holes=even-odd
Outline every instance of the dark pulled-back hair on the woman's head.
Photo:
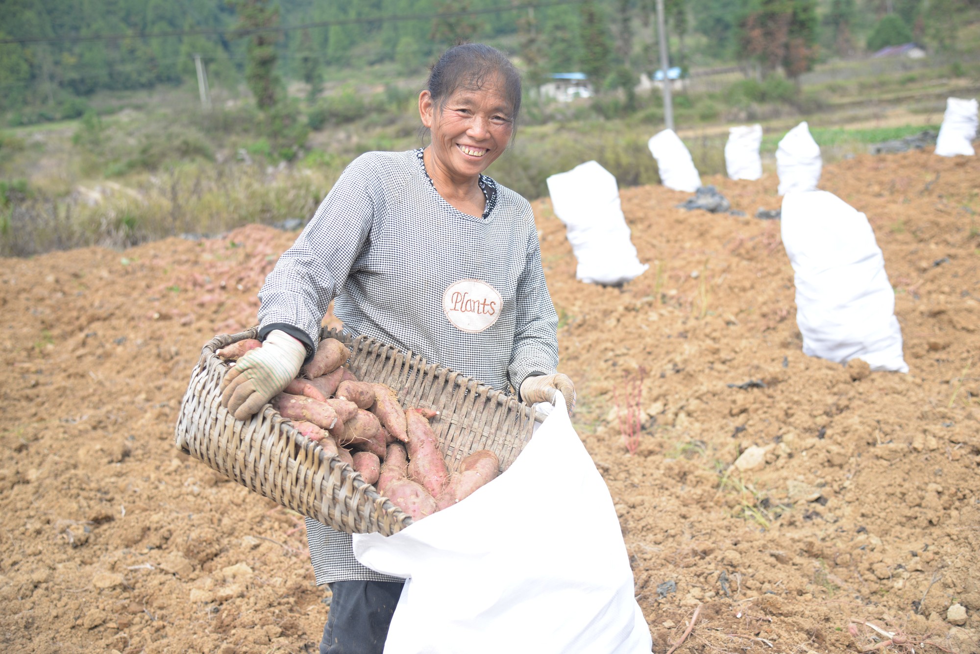
[{"label": "dark pulled-back hair on the woman's head", "polygon": [[463,43],[442,53],[429,71],[425,84],[435,109],[460,89],[478,91],[487,81],[503,82],[504,98],[511,105],[511,122],[516,126],[520,113],[520,73],[497,48],[483,43]]}]

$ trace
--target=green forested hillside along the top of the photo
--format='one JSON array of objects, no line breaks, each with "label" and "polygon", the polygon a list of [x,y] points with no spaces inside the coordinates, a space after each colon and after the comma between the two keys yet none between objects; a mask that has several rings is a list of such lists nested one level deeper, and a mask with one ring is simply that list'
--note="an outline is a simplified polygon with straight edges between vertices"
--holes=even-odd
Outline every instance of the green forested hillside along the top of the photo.
[{"label": "green forested hillside along the top of the photo", "polygon": [[[657,68],[654,0],[514,0],[514,8],[503,10],[502,4],[5,0],[0,111],[14,124],[76,117],[83,111],[76,98],[98,90],[192,81],[194,54],[201,56],[211,85],[219,87],[245,81],[256,74],[255,66],[265,66],[275,83],[305,79],[314,86],[324,73],[379,64],[408,74],[458,38],[504,47],[532,80],[549,71],[585,70],[604,88],[625,88],[639,73]],[[665,5],[673,62],[684,67],[755,62],[762,71],[781,69],[795,76],[819,60],[911,39],[956,52],[962,19],[980,3],[666,0]]]}]

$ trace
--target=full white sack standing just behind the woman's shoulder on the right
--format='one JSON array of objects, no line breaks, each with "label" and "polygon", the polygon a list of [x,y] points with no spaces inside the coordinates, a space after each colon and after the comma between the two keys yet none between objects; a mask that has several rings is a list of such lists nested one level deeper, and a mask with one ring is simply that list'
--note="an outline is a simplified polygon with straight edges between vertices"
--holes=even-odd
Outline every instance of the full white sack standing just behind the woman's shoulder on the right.
[{"label": "full white sack standing just behind the woman's shoulder on the right", "polygon": [[549,177],[548,192],[578,259],[577,279],[620,284],[649,267],[636,257],[612,172],[597,162],[582,163]]}]

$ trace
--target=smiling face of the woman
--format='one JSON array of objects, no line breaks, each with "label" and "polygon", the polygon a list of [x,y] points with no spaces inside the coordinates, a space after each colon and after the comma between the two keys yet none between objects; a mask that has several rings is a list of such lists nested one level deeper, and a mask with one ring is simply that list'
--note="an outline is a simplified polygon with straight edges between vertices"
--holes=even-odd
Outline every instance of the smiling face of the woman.
[{"label": "smiling face of the woman", "polygon": [[479,175],[503,154],[514,132],[511,103],[499,79],[477,91],[461,89],[441,107],[428,91],[418,96],[422,124],[432,133],[434,163],[463,181]]}]

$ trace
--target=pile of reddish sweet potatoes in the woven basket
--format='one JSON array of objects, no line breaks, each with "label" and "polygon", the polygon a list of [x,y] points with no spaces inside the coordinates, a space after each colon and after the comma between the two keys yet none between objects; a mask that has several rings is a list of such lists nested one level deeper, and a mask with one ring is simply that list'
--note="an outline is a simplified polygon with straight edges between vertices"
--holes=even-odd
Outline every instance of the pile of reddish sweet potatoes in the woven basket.
[{"label": "pile of reddish sweet potatoes in the woven basket", "polygon": [[[260,347],[245,340],[218,354],[237,360]],[[414,520],[455,504],[497,476],[500,461],[489,449],[473,452],[450,474],[429,425],[436,412],[404,409],[392,389],[359,381],[344,367],[350,355],[336,339],[320,341],[317,354],[272,406]]]}]

